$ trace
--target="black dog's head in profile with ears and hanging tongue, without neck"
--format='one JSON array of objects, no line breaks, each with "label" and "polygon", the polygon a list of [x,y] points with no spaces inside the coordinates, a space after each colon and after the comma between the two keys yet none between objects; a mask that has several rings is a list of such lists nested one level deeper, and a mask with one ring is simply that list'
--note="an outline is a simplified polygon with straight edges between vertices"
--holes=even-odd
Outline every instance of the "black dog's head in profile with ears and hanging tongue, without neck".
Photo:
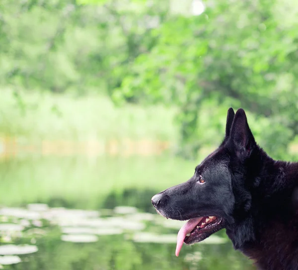
[{"label": "black dog's head in profile with ears and hanging tongue, without neck", "polygon": [[[183,242],[194,244],[222,228],[237,227],[240,230],[241,224],[244,226],[245,222],[249,222],[249,190],[257,184],[260,151],[244,110],[238,109],[235,114],[229,108],[225,137],[219,148],[196,167],[191,179],[152,197],[153,206],[164,217],[188,220],[178,233],[177,256]],[[234,226],[235,223],[237,226]],[[233,236],[235,234],[237,232],[233,231]],[[243,237],[250,240],[253,233],[247,232],[241,237],[241,241]]]}]

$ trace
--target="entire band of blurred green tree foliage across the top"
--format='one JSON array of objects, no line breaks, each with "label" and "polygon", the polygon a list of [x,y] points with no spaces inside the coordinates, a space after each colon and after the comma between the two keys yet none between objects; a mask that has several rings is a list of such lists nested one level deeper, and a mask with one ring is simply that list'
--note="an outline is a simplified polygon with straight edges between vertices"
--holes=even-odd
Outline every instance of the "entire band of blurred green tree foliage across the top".
[{"label": "entire band of blurred green tree foliage across the top", "polygon": [[0,85],[167,104],[187,158],[217,145],[227,108],[243,107],[265,150],[288,157],[298,135],[297,3],[206,0],[197,16],[190,3],[3,0]]}]

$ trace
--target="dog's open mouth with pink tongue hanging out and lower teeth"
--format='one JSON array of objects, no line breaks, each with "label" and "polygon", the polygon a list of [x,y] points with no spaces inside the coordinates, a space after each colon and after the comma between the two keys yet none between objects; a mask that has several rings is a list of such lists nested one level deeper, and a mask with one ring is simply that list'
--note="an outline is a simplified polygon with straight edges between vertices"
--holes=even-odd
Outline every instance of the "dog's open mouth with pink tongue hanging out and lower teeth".
[{"label": "dog's open mouth with pink tongue hanging out and lower teeth", "polygon": [[203,241],[222,229],[221,223],[222,218],[216,216],[197,217],[188,220],[178,232],[176,256],[179,255],[183,242],[191,245]]}]

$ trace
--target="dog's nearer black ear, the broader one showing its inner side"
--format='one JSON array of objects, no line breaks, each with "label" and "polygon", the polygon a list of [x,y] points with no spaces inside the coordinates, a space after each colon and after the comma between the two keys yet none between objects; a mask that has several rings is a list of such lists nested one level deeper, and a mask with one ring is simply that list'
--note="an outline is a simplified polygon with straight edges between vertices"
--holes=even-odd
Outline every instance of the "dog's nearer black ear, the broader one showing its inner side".
[{"label": "dog's nearer black ear, the broader one showing its inner side", "polygon": [[248,126],[243,109],[236,111],[230,131],[230,139],[239,157],[247,158],[250,156],[256,142]]}]

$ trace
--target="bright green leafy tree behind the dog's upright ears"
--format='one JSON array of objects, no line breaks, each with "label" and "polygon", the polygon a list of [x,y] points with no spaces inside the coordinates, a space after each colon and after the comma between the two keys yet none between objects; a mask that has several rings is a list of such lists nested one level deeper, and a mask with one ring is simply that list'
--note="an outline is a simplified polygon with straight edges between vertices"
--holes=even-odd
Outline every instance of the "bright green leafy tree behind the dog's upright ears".
[{"label": "bright green leafy tree behind the dog's upright ears", "polygon": [[205,136],[202,121],[223,134],[220,115],[229,106],[253,113],[252,129],[262,126],[259,143],[274,157],[287,157],[298,133],[297,4],[292,1],[292,10],[282,0],[206,4],[200,16],[172,15],[154,29],[155,46],[135,59],[121,92],[176,104],[187,157],[202,143],[219,143],[216,134]]}]

